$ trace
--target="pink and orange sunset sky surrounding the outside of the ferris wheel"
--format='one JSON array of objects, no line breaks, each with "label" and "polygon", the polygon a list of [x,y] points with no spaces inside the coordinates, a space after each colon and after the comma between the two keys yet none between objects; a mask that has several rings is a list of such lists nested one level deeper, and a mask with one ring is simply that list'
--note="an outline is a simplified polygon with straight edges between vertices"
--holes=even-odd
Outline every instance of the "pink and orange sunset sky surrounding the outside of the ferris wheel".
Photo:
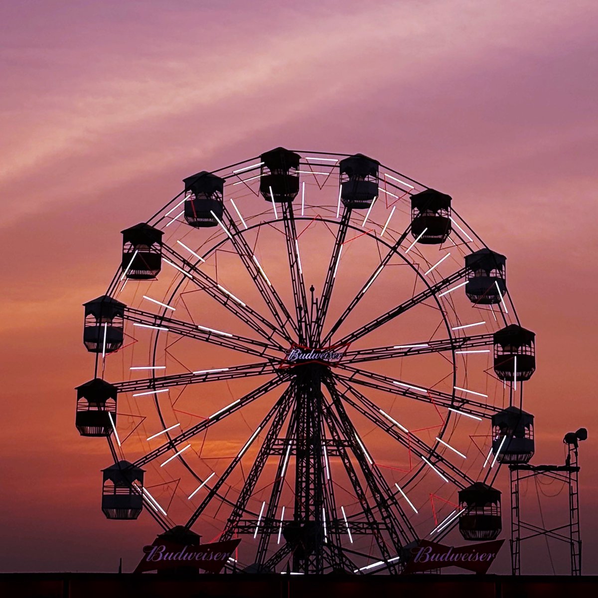
[{"label": "pink and orange sunset sky surrounding the outside of the ferris wheel", "polygon": [[182,178],[282,145],[363,152],[449,193],[508,256],[537,334],[534,462],[588,428],[598,573],[597,23],[589,0],[2,3],[0,568],[130,569],[153,539],[148,517],[103,517],[109,454],[74,427],[81,304],[111,280],[120,231]]}]

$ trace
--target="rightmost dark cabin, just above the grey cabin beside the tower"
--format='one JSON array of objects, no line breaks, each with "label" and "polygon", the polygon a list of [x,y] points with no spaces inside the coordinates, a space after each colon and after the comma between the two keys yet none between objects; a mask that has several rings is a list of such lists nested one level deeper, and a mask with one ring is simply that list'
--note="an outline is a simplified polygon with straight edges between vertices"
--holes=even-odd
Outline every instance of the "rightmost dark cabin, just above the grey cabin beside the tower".
[{"label": "rightmost dark cabin, just above the grey cabin beside the tower", "polygon": [[536,335],[517,324],[494,334],[494,371],[507,382],[529,380],[536,371]]}]

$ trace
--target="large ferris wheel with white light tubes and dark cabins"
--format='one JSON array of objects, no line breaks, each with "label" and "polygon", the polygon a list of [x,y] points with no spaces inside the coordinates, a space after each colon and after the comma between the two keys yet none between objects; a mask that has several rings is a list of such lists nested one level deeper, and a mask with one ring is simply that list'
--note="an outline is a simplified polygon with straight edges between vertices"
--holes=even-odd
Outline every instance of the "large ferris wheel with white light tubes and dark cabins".
[{"label": "large ferris wheel with white light tubes and dark cabins", "polygon": [[122,234],[77,388],[107,518],[243,538],[230,568],[252,572],[399,572],[420,539],[499,535],[535,334],[449,195],[276,148]]}]

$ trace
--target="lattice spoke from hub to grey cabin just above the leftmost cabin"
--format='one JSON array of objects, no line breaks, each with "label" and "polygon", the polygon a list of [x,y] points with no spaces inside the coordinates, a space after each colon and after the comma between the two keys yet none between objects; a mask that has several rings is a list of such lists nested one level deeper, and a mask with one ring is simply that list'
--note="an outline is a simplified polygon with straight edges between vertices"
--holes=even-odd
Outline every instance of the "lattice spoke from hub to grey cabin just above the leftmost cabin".
[{"label": "lattice spoke from hub to grey cabin just above the leftmost cabin", "polygon": [[196,338],[197,340],[205,341],[206,343],[215,344],[227,349],[234,349],[241,353],[248,355],[256,355],[258,357],[274,358],[275,356],[268,353],[269,349],[276,350],[271,343],[254,340],[253,338],[243,337],[231,332],[225,332],[191,324],[191,322],[183,322],[174,318],[167,318],[155,313],[145,312],[140,309],[133,309],[126,307],[124,309],[124,319],[133,322],[133,325],[157,329],[166,329],[167,332],[173,332],[188,338]]}]

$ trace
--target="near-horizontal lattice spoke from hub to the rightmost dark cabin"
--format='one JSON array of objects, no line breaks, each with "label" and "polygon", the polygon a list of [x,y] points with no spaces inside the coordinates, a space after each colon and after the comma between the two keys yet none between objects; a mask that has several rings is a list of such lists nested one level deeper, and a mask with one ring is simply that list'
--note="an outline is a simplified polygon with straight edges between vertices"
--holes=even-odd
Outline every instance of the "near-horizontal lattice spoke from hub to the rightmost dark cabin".
[{"label": "near-horizontal lattice spoke from hub to the rightmost dark cabin", "polygon": [[[410,355],[425,355],[426,353],[438,353],[442,351],[456,350],[466,352],[466,349],[475,347],[486,347],[493,344],[494,334],[478,334],[472,336],[441,338],[427,340],[410,344],[390,345],[387,347],[373,347],[372,349],[356,349],[347,351],[344,359],[352,364],[364,361],[378,361],[379,359],[394,359]],[[475,352],[475,351],[473,351]]]}]

